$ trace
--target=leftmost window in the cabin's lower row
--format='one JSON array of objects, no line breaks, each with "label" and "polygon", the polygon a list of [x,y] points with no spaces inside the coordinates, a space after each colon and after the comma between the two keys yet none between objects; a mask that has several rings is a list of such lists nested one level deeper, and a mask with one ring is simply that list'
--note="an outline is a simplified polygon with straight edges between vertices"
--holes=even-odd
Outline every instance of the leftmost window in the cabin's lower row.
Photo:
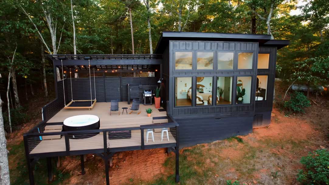
[{"label": "leftmost window in the cabin's lower row", "polygon": [[192,77],[175,78],[175,106],[192,106]]}]

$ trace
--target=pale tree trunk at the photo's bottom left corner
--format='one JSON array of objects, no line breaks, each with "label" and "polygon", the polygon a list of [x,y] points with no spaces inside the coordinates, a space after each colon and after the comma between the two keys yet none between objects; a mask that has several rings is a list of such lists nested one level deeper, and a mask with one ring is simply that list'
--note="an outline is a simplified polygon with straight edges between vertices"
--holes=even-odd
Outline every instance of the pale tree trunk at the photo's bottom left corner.
[{"label": "pale tree trunk at the photo's bottom left corner", "polygon": [[[1,78],[1,74],[0,74]],[[0,97],[0,184],[10,185],[7,140],[2,117],[2,103]]]}]

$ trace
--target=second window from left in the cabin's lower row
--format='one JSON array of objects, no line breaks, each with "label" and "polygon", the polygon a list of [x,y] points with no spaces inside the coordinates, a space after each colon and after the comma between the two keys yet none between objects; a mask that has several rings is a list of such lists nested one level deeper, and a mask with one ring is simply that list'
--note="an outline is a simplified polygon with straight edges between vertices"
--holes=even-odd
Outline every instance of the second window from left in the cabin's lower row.
[{"label": "second window from left in the cabin's lower row", "polygon": [[212,105],[213,77],[196,77],[196,106]]}]

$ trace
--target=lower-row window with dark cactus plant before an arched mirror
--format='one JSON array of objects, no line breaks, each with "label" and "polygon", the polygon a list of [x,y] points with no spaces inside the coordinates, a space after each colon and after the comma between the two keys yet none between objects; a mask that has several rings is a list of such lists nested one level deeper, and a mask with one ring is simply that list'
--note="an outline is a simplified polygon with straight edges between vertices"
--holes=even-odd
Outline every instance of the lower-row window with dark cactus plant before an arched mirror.
[{"label": "lower-row window with dark cactus plant before an arched mirror", "polygon": [[238,76],[236,103],[250,103],[251,76]]}]

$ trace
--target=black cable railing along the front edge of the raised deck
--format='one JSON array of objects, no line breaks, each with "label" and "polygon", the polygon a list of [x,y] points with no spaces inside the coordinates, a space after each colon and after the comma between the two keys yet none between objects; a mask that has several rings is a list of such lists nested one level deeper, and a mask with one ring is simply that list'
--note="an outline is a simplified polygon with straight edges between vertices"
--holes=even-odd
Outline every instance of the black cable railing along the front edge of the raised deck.
[{"label": "black cable railing along the front edge of the raised deck", "polygon": [[[170,120],[170,117],[168,117]],[[177,145],[176,122],[140,125],[139,127],[43,132],[40,124],[24,135],[25,150],[29,155],[77,155],[150,149]],[[43,127],[43,128],[42,128]],[[39,133],[39,131],[41,133]]]}]

